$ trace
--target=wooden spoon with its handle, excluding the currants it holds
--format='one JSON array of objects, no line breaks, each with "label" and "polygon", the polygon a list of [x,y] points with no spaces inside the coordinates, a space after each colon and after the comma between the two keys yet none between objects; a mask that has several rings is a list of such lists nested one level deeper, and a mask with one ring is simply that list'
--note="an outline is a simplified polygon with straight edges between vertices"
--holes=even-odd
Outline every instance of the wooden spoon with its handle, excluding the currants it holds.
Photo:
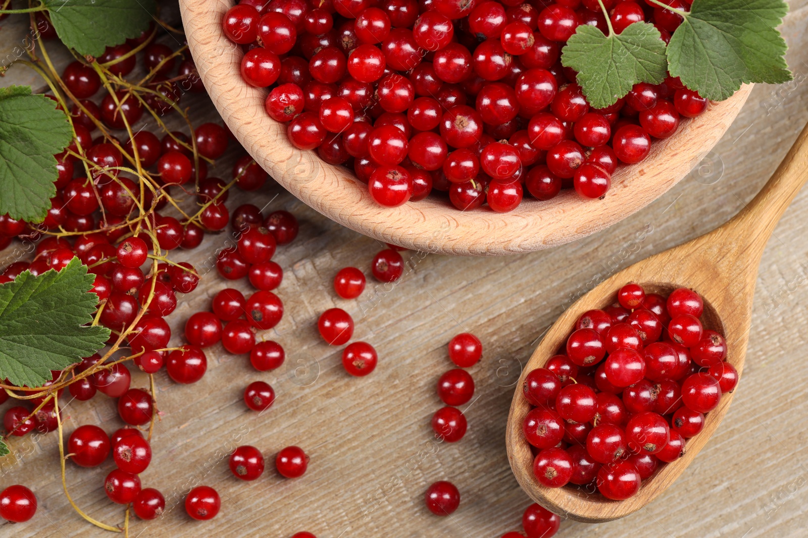
[{"label": "wooden spoon with its handle, excluding the currants it holds", "polygon": [[522,488],[533,500],[562,517],[596,523],[621,518],[638,511],[670,486],[713,435],[732,402],[724,394],[718,408],[706,416],[704,430],[687,440],[684,457],[642,481],[638,494],[625,501],[611,501],[600,493],[587,493],[574,486],[542,486],[532,470],[533,457],[522,433],[522,423],[530,411],[521,387],[532,369],[541,368],[565,347],[583,312],[616,302],[617,290],[628,282],[638,282],[646,291],[668,294],[678,287],[696,290],[704,298],[702,323],[726,337],[726,361],[743,372],[755,280],[764,247],[789,203],[808,179],[808,126],[763,190],[730,222],[688,243],[659,252],[609,277],[570,308],[550,327],[544,340],[528,361],[511,402],[507,421],[507,453],[511,469]]}]

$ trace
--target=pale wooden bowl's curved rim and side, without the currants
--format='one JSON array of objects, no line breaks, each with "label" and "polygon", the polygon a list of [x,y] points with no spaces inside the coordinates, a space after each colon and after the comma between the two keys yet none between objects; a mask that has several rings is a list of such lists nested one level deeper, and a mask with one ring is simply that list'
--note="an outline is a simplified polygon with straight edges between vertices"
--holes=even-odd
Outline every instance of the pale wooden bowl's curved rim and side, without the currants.
[{"label": "pale wooden bowl's curved rim and side, without the currants", "polygon": [[484,206],[457,211],[447,198],[386,208],[370,198],[353,173],[289,144],[286,127],[263,108],[267,90],[242,81],[241,48],[221,30],[231,0],[180,0],[188,46],[213,104],[246,151],[289,192],[330,219],[387,243],[424,252],[499,256],[569,243],[640,210],[680,181],[722,137],[746,102],[745,85],[674,136],[654,142],[638,165],[622,166],[603,200],[564,190],[547,202],[524,201],[510,213]]}]

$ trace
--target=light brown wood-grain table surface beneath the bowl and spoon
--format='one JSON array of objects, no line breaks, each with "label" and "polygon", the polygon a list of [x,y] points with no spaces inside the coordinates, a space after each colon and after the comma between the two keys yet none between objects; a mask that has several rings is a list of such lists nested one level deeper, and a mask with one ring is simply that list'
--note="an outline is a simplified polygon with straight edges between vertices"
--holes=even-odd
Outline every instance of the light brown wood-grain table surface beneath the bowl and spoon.
[{"label": "light brown wood-grain table surface beneath the bowl and spoon", "polygon": [[[406,252],[410,270],[394,286],[369,278],[353,301],[336,297],[335,273],[356,265],[369,274],[381,248],[318,215],[278,186],[260,194],[234,192],[228,205],[252,202],[292,211],[300,235],[278,249],[284,268],[278,290],[285,315],[263,337],[287,352],[283,367],[259,373],[246,357],[208,348],[208,373],[190,386],[158,373],[160,422],[155,428],[154,461],[141,475],[144,487],[166,496],[162,519],[131,521],[130,536],[269,536],[287,538],[313,532],[318,538],[499,537],[521,530],[530,503],[511,474],[505,453],[505,419],[520,365],[563,309],[604,277],[654,252],[680,244],[724,223],[748,202],[776,168],[808,121],[808,2],[789,2],[783,32],[795,80],[758,85],[738,119],[710,154],[710,161],[646,209],[573,244],[545,252],[498,258],[457,258]],[[176,17],[166,6],[166,19]],[[0,59],[22,44],[20,17],[0,23]],[[175,18],[179,19],[179,18]],[[52,47],[53,48],[53,47]],[[66,56],[57,55],[59,65]],[[34,84],[31,71],[14,66],[2,85]],[[196,124],[218,120],[202,97],[183,98]],[[173,125],[179,126],[174,118]],[[234,146],[235,144],[231,144]],[[231,147],[211,172],[228,179],[239,148]],[[642,181],[638,178],[637,181]],[[802,216],[801,216],[802,215]],[[690,468],[650,506],[612,523],[596,526],[565,521],[557,536],[806,536],[808,527],[808,190],[786,212],[769,241],[755,293],[747,365],[734,404],[713,440]],[[221,248],[225,235],[208,236],[193,252],[175,252],[178,261],[204,262]],[[12,249],[0,252],[0,266]],[[209,267],[209,265],[208,265]],[[244,291],[246,282],[229,284]],[[179,298],[170,315],[175,344],[185,319],[207,309],[225,287],[215,271],[199,288]],[[341,348],[322,343],[318,315],[341,307],[356,320],[357,340],[379,352],[368,377],[344,372]],[[458,332],[483,342],[483,358],[471,369],[477,390],[463,407],[469,432],[457,444],[433,440],[429,421],[441,407],[437,378],[452,365],[446,344]],[[242,402],[252,381],[276,390],[275,404],[259,415]],[[146,386],[133,373],[133,386]],[[10,404],[6,403],[0,412]],[[63,409],[65,437],[84,423],[108,432],[123,425],[115,401],[103,394]],[[270,467],[255,482],[240,482],[228,469],[229,452],[239,444],[274,454],[297,444],[311,457],[296,480],[280,478]],[[82,520],[59,485],[57,434],[26,436],[10,442],[12,456],[0,461],[0,486],[25,484],[40,508],[28,523],[0,525],[0,536],[111,536]],[[67,465],[74,501],[105,523],[122,525],[124,510],[103,493],[107,461],[95,469]],[[437,480],[461,490],[461,507],[438,518],[423,506],[423,491]],[[195,522],[183,509],[191,486],[214,486],[222,498],[216,519]]]}]

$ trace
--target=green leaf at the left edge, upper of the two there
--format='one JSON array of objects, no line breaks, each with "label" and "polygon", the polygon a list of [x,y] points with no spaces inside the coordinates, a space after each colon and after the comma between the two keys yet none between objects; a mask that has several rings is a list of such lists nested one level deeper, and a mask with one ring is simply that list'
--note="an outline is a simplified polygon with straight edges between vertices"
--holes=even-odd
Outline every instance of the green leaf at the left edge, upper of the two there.
[{"label": "green leaf at the left edge, upper of the two there", "polygon": [[57,103],[31,86],[0,88],[0,215],[41,222],[56,195],[56,158],[73,138]]}]

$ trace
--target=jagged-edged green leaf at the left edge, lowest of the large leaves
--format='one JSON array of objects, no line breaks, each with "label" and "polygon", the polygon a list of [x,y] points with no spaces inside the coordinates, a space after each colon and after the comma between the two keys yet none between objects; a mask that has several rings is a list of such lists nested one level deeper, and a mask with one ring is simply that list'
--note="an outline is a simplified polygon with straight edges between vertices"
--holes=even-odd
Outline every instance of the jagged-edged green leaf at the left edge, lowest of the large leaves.
[{"label": "jagged-edged green leaf at the left edge, lowest of the large leaves", "polygon": [[98,295],[95,275],[74,258],[61,271],[24,271],[0,285],[0,379],[42,386],[51,370],[65,369],[103,348],[110,331],[89,326]]}]

